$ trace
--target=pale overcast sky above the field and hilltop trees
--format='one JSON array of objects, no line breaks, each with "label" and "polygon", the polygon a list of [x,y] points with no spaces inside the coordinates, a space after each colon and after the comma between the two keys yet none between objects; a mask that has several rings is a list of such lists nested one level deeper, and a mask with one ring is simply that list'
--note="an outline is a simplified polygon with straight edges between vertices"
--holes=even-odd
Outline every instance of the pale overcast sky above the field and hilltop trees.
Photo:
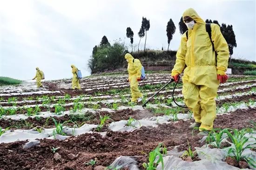
[{"label": "pale overcast sky above the field and hilltop trees", "polygon": [[88,59],[101,38],[106,35],[110,43],[121,38],[129,46],[131,27],[138,44],[142,17],[150,20],[147,48],[167,49],[172,19],[176,32],[169,48],[177,50],[178,23],[190,7],[204,20],[233,25],[233,57],[256,61],[255,0],[0,0],[0,76],[32,79],[39,67],[47,80],[69,78],[71,64],[88,76]]}]

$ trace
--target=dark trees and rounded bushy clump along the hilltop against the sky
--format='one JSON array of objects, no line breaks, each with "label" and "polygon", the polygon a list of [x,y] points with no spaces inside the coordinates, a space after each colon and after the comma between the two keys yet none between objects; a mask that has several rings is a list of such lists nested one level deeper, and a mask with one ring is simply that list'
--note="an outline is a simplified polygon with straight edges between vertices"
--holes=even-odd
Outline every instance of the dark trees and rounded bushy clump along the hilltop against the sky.
[{"label": "dark trees and rounded bushy clump along the hilltop against the sky", "polygon": [[[230,58],[233,54],[233,48],[236,47],[236,35],[233,31],[232,25],[226,25],[222,23],[222,25],[219,24],[217,20],[211,20],[206,19],[206,23],[215,23],[220,26],[221,32],[225,40],[227,41],[229,45],[229,55]],[[179,22],[179,32],[180,34],[184,34],[188,28],[184,24],[183,19],[181,17]],[[140,38],[139,44],[138,44],[138,51],[141,43],[141,39],[145,37],[145,44],[144,44],[144,52],[146,50],[146,41],[147,41],[147,32],[150,28],[150,21],[146,17],[142,17],[141,27],[138,32],[138,36]],[[176,31],[175,24],[172,19],[169,19],[166,26],[166,35],[167,35],[167,42],[168,42],[168,49],[170,42],[173,38],[173,35]],[[134,31],[130,27],[127,27],[126,29],[126,36],[127,38],[130,38],[130,43],[132,46],[132,51],[135,51],[133,48],[134,43]],[[163,50],[163,48],[162,48]],[[91,71],[91,73],[101,72],[106,69],[118,69],[123,64],[123,55],[127,53],[128,50],[124,43],[120,43],[120,41],[115,41],[113,45],[111,45],[108,42],[108,38],[104,35],[101,39],[101,43],[99,45],[95,45],[93,48],[92,56],[89,59],[88,67]]]}]

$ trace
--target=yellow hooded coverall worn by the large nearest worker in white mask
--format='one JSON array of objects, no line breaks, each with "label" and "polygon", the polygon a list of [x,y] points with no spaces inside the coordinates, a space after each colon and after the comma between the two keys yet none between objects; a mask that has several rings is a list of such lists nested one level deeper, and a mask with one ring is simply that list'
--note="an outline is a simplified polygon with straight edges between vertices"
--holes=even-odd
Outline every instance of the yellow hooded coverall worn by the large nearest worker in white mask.
[{"label": "yellow hooded coverall worn by the large nearest worker in white mask", "polygon": [[219,25],[211,24],[211,37],[218,54],[216,58],[205,22],[192,8],[183,13],[183,19],[185,16],[196,23],[193,29],[189,29],[188,39],[186,33],[182,35],[171,76],[181,74],[187,65],[182,77],[184,102],[193,111],[195,122],[201,123],[199,130],[211,130],[216,118],[215,97],[220,84],[217,74],[224,75],[227,70],[229,48]]}]

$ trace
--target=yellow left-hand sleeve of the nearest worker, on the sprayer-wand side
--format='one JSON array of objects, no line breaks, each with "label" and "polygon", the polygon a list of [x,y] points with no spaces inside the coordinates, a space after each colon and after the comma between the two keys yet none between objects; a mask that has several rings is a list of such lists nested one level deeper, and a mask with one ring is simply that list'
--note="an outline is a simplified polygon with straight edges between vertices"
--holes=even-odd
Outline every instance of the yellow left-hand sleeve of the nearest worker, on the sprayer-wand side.
[{"label": "yellow left-hand sleeve of the nearest worker, on the sprayer-wand side", "polygon": [[185,67],[185,56],[187,53],[187,36],[186,32],[182,35],[182,40],[179,49],[176,53],[176,62],[172,69],[171,76],[175,76],[177,74],[181,74],[182,70]]}]

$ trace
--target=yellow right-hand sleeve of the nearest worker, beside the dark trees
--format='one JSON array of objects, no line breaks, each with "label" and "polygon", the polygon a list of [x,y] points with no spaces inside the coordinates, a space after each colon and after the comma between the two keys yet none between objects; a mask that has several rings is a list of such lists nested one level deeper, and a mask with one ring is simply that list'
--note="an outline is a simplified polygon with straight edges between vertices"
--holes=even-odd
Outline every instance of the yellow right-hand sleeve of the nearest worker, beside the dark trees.
[{"label": "yellow right-hand sleeve of the nearest worker, beside the dark trees", "polygon": [[212,41],[214,49],[217,52],[217,69],[226,71],[229,62],[229,46],[223,37],[220,26],[217,24],[211,24]]}]

